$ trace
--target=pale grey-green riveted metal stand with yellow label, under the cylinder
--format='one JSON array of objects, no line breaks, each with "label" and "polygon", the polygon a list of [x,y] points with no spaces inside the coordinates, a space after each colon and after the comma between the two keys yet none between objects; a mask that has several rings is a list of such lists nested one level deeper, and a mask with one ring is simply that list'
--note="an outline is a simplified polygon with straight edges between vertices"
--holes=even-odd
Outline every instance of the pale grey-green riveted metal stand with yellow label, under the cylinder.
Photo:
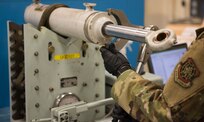
[{"label": "pale grey-green riveted metal stand with yellow label, under the cylinder", "polygon": [[[11,27],[9,24],[8,27]],[[11,47],[15,43],[10,37],[15,33],[10,31],[8,40]],[[45,27],[38,30],[30,24],[24,24],[23,35],[25,94],[22,96],[25,97],[25,116],[15,120],[11,116],[11,121],[30,122],[49,118],[51,109],[56,107],[57,98],[63,93],[73,94],[87,103],[105,98],[105,69],[99,45],[64,38]],[[9,57],[12,55],[15,55],[15,51],[9,50]],[[19,77],[11,78],[16,73],[11,69],[15,61],[9,58],[9,64],[10,110],[14,114],[16,101],[13,95],[16,91],[12,87]],[[17,74],[20,75],[19,72]],[[78,121],[91,122],[104,114],[104,106],[94,108],[81,114]]]}]

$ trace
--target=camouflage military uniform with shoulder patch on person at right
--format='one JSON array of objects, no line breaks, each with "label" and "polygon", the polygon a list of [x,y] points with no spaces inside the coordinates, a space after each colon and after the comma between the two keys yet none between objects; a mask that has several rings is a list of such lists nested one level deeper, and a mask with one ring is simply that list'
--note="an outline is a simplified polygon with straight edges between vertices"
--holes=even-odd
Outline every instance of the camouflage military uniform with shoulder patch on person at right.
[{"label": "camouflage military uniform with shoulder patch on person at right", "polygon": [[123,72],[112,96],[141,122],[197,122],[204,120],[204,28],[181,58],[162,88],[133,70]]}]

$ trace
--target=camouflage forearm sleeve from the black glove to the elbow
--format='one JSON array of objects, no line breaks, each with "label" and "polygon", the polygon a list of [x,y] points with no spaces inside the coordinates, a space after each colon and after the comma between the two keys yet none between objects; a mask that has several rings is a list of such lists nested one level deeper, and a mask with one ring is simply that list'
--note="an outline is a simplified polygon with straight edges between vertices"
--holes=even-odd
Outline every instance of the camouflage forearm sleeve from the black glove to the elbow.
[{"label": "camouflage forearm sleeve from the black glove to the elbow", "polygon": [[141,122],[172,121],[162,88],[143,79],[133,70],[127,70],[119,76],[112,88],[112,96],[127,113]]}]

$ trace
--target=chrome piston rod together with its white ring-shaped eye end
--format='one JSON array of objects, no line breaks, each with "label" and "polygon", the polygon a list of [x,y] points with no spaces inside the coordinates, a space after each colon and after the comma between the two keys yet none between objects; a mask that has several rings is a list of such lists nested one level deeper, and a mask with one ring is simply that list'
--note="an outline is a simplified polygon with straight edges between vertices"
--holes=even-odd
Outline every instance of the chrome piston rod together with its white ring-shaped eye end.
[{"label": "chrome piston rod together with its white ring-shaped eye end", "polygon": [[106,24],[102,31],[107,36],[147,43],[153,51],[168,49],[176,43],[176,36],[170,29],[152,31],[151,29]]}]

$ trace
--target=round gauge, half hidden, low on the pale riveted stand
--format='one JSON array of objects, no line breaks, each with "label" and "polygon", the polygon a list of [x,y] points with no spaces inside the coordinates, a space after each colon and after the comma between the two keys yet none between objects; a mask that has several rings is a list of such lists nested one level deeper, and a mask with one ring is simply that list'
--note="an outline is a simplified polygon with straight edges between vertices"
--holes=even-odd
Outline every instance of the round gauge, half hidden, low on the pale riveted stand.
[{"label": "round gauge, half hidden, low on the pale riveted stand", "polygon": [[79,97],[71,92],[62,93],[58,95],[57,98],[55,99],[53,107],[68,105],[68,104],[72,104],[72,103],[79,102],[79,101],[80,101]]}]

